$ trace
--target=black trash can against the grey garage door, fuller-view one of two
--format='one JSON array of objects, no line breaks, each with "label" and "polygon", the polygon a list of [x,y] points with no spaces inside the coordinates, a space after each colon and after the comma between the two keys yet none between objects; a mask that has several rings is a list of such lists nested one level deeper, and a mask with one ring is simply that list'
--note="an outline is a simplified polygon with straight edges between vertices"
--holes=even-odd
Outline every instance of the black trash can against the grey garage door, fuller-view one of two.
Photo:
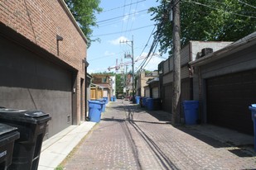
[{"label": "black trash can against the grey garage door, fuller-view one of two", "polygon": [[41,144],[46,134],[49,114],[42,111],[0,109],[2,123],[17,127],[20,139],[14,143],[10,169],[34,170],[38,168]]}]

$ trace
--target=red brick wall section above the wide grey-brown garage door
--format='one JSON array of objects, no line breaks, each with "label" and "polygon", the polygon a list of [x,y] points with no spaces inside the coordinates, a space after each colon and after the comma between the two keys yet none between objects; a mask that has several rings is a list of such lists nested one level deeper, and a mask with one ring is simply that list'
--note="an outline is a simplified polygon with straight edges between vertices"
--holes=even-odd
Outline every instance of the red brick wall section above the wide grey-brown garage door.
[{"label": "red brick wall section above the wide grey-brown garage door", "polygon": [[0,21],[56,56],[56,35],[60,35],[63,41],[59,41],[60,54],[57,57],[84,72],[85,38],[80,35],[61,1],[1,0]]}]

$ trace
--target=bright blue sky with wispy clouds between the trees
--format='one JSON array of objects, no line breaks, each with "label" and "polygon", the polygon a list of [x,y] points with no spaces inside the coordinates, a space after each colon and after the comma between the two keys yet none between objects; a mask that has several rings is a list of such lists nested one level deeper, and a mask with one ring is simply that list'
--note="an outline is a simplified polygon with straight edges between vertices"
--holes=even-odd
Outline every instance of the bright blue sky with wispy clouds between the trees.
[{"label": "bright blue sky with wispy clouds between the trees", "polygon": [[[154,21],[147,13],[149,7],[156,7],[158,2],[152,0],[101,0],[100,7],[103,12],[97,15],[97,24],[94,27],[93,39],[99,38],[100,42],[92,42],[87,51],[89,62],[89,73],[109,72],[109,67],[123,63],[128,64],[128,71],[132,70],[131,59],[124,59],[124,54],[132,54],[131,43],[120,43],[120,41],[133,40],[134,71],[137,71],[152,44],[152,31]],[[149,41],[148,41],[149,40]],[[148,41],[148,43],[147,43]],[[145,48],[146,46],[146,48]],[[143,50],[145,48],[145,50]],[[159,57],[158,50],[152,59],[144,67],[147,70],[157,69],[157,65],[167,59],[167,54]],[[115,69],[111,69],[115,72]],[[120,73],[120,69],[118,73]]]}]

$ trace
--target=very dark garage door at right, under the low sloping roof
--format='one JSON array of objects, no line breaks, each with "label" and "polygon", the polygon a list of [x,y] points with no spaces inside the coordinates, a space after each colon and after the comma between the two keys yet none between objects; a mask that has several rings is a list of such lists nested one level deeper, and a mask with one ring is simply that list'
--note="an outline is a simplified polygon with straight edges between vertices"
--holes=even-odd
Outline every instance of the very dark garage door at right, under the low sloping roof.
[{"label": "very dark garage door at right, under the low sloping roof", "polygon": [[206,80],[207,121],[253,135],[249,106],[256,102],[256,70]]}]

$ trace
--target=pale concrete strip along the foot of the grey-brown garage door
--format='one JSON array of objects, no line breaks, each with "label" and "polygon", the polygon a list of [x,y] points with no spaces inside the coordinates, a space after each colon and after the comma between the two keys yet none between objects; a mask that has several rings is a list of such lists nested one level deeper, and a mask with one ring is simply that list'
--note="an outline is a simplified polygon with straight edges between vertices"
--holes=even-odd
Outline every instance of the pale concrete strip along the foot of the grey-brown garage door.
[{"label": "pale concrete strip along the foot of the grey-brown garage door", "polygon": [[53,170],[69,155],[96,123],[85,121],[70,125],[43,142],[38,170]]}]

